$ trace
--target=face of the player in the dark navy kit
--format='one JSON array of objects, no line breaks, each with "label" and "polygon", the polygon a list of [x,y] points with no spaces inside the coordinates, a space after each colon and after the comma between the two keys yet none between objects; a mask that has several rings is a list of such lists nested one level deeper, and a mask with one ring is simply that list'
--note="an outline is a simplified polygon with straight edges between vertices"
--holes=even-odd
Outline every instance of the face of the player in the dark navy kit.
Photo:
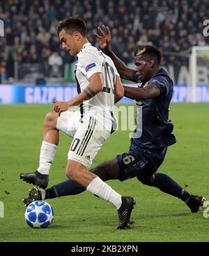
[{"label": "face of the player in the dark navy kit", "polygon": [[139,55],[134,57],[134,62],[137,69],[137,75],[139,75],[139,79],[148,81],[153,75],[153,60],[147,61],[142,55]]}]

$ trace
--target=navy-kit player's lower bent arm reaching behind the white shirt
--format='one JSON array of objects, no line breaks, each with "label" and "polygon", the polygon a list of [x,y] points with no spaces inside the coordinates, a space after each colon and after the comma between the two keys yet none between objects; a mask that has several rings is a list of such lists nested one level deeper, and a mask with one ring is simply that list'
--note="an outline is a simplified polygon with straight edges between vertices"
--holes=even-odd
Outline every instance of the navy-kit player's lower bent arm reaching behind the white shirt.
[{"label": "navy-kit player's lower bent arm reaching behind the white shirt", "polygon": [[144,88],[136,88],[130,86],[123,86],[124,96],[127,98],[132,98],[133,100],[148,100],[150,98],[155,98],[160,95],[160,88],[155,84],[149,84]]}]

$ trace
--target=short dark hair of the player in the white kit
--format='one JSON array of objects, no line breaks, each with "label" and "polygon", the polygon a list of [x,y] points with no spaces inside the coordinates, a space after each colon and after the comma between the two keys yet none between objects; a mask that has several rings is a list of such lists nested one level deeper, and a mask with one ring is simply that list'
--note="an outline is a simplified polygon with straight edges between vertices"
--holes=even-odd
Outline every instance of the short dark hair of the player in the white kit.
[{"label": "short dark hair of the player in the white kit", "polygon": [[86,23],[78,16],[68,17],[65,20],[61,20],[56,29],[58,35],[62,29],[65,29],[65,31],[71,35],[73,32],[79,31],[82,36],[86,37],[87,33]]}]

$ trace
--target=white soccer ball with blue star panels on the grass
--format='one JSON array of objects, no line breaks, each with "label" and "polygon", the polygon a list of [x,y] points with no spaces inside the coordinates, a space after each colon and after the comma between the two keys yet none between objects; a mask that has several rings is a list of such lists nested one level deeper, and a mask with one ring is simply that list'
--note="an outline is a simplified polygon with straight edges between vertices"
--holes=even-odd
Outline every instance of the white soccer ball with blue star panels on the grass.
[{"label": "white soccer ball with blue star panels on the grass", "polygon": [[30,227],[49,227],[54,220],[54,211],[50,204],[39,200],[27,206],[24,218]]}]

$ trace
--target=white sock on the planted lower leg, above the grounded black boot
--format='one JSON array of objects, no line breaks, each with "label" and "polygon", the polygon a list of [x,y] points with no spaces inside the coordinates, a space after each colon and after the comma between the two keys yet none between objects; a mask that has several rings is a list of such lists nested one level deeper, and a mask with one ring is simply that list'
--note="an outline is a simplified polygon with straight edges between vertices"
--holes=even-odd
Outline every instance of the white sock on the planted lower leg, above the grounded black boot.
[{"label": "white sock on the planted lower leg, above the grounded black boot", "polygon": [[121,207],[121,195],[116,193],[116,191],[107,185],[107,183],[102,181],[100,177],[93,179],[93,181],[88,184],[86,190],[94,195],[98,195],[98,197],[104,199],[105,201],[110,202],[116,207],[117,210]]}]

